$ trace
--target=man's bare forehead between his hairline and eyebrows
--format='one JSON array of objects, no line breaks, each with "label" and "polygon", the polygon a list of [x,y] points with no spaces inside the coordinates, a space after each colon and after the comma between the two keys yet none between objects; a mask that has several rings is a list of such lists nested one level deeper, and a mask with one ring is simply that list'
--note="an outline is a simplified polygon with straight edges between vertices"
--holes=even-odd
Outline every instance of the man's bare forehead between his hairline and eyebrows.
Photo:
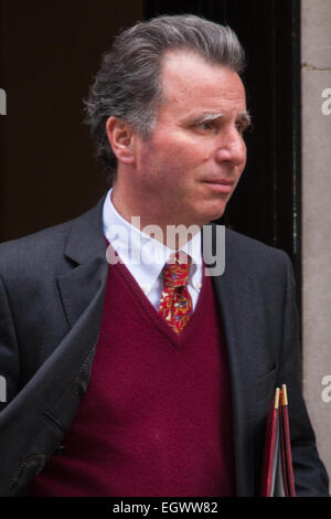
[{"label": "man's bare forehead between his hairline and eyebrows", "polygon": [[246,108],[245,88],[237,73],[186,51],[163,56],[161,83],[166,105],[221,108],[233,104],[241,110]]}]

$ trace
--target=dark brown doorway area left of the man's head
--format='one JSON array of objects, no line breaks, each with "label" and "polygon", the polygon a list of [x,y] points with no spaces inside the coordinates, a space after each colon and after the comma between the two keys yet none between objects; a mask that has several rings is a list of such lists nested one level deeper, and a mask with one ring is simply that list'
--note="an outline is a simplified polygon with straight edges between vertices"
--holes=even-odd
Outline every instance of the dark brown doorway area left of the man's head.
[{"label": "dark brown doorway area left of the man's head", "polygon": [[106,189],[83,125],[102,54],[142,0],[0,0],[0,241],[70,220]]}]

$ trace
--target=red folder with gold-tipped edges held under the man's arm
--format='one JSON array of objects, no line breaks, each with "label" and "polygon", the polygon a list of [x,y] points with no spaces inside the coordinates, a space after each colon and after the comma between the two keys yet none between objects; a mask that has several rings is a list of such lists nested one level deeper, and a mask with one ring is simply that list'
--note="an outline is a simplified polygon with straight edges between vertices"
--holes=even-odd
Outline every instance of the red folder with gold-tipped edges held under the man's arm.
[{"label": "red folder with gold-tipped edges held under the man's arm", "polygon": [[267,416],[260,496],[296,496],[286,384],[276,389]]}]

